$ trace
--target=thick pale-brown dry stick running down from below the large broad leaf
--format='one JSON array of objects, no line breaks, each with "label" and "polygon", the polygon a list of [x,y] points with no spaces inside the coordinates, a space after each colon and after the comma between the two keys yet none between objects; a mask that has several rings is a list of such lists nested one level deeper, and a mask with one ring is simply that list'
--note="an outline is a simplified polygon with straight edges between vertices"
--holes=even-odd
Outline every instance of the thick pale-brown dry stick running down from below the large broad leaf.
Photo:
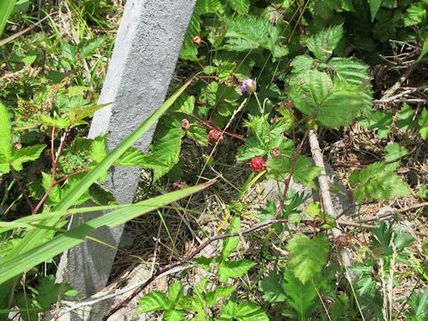
[{"label": "thick pale-brown dry stick running down from below the large broad leaf", "polygon": [[[325,171],[323,154],[321,152],[321,149],[319,148],[317,134],[315,133],[315,130],[313,128],[309,129],[309,145],[310,152],[312,153],[315,165],[322,169],[321,173],[318,176],[321,202],[323,204],[325,213],[334,218],[336,216],[336,211],[334,210],[332,195],[330,194],[330,184],[328,182],[327,173]],[[337,236],[342,235],[342,231],[339,228],[333,228],[332,234],[333,237],[336,238]],[[353,284],[355,276],[348,269],[348,267],[350,267],[350,255],[346,249],[339,250],[339,259],[341,260],[343,268],[345,268],[346,277],[350,281],[350,284]]]}]

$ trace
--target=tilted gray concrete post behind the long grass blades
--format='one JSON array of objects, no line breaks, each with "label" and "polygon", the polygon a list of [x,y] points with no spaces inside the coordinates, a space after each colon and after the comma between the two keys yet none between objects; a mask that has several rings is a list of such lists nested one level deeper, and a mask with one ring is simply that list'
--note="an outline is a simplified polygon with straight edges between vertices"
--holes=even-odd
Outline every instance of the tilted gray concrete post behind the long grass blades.
[{"label": "tilted gray concrete post behind the long grass blades", "polygon": [[[144,119],[161,106],[192,17],[196,0],[128,0],[120,22],[116,44],[98,103],[113,104],[95,113],[89,137],[110,133],[106,147],[111,151]],[[134,145],[145,151],[154,127]],[[103,186],[119,203],[133,201],[140,169],[111,168]],[[76,216],[70,227],[103,213]],[[123,226],[102,227],[92,237],[114,247]],[[107,283],[116,250],[86,241],[62,255],[57,282],[66,276],[79,298],[101,290]]]}]

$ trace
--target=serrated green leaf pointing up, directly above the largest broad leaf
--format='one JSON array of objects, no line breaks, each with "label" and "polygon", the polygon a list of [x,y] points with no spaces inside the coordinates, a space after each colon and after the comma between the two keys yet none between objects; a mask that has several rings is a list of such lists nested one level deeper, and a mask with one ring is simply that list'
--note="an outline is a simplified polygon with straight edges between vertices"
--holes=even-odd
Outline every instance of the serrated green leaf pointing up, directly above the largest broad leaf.
[{"label": "serrated green leaf pointing up, directly above the largest broad leaf", "polygon": [[333,54],[333,50],[341,40],[342,35],[342,25],[334,26],[321,30],[314,36],[309,37],[306,45],[308,45],[308,49],[314,53],[317,59],[327,61]]}]

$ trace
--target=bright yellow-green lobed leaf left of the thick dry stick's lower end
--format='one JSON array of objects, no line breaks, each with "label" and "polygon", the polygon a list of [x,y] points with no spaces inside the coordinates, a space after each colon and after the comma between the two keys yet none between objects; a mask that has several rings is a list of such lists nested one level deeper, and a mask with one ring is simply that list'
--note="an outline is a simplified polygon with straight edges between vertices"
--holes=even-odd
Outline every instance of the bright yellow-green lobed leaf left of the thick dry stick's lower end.
[{"label": "bright yellow-green lobed leaf left of the thick dry stick's lower end", "polygon": [[290,269],[302,284],[316,276],[327,263],[329,246],[325,235],[317,235],[313,240],[306,235],[294,235],[287,249]]}]

